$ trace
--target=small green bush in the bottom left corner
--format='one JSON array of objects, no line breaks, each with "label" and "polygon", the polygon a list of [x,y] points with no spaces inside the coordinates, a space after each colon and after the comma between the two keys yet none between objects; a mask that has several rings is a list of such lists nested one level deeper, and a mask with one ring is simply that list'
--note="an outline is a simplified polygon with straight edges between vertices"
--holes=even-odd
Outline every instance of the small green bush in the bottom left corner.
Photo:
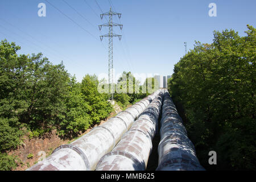
[{"label": "small green bush in the bottom left corner", "polygon": [[0,171],[11,171],[16,169],[16,157],[0,152]]}]

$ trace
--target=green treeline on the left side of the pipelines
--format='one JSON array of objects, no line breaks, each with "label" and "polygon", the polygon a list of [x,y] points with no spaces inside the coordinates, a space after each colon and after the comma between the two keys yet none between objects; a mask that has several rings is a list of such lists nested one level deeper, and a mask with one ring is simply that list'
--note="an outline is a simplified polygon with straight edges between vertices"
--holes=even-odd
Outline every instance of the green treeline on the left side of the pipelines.
[{"label": "green treeline on the left side of the pipelines", "polygon": [[[110,95],[98,92],[97,76],[77,82],[63,63],[53,65],[42,53],[18,55],[19,49],[1,41],[0,170],[15,168],[6,151],[21,146],[24,134],[36,138],[56,129],[59,137],[71,139],[113,111]],[[126,107],[144,96],[115,94],[114,99]]]}]

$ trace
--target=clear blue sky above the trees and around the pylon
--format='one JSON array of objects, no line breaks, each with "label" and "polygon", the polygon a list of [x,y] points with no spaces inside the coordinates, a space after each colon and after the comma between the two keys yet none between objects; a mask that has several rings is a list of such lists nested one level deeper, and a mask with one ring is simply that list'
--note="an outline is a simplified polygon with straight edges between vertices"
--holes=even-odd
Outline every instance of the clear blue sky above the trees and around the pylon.
[{"label": "clear blue sky above the trees and around the pylon", "polygon": [[[45,0],[0,1],[0,39],[16,42],[19,54],[42,52],[53,64],[63,60],[77,81],[87,73],[108,73],[108,39],[100,41],[108,28],[100,31],[98,25],[106,23],[100,14],[110,2],[122,13],[114,22],[123,24],[122,32],[114,27],[123,35],[121,41],[114,38],[115,73],[171,75],[184,42],[189,51],[195,40],[212,43],[214,30],[232,28],[245,36],[246,24],[256,27],[255,0],[97,0],[100,7],[95,0],[65,0],[84,18],[63,0],[48,1],[66,16]],[[46,4],[46,17],[38,16],[39,3]],[[216,3],[216,17],[208,15],[209,3]]]}]

